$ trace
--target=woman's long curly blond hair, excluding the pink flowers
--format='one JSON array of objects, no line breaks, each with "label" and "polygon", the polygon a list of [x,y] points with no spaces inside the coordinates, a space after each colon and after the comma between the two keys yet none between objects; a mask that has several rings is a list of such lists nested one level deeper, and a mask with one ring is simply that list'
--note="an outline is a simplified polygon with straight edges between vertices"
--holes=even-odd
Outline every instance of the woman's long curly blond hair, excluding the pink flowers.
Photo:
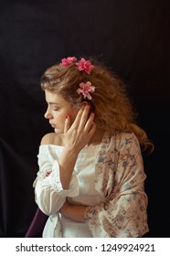
[{"label": "woman's long curly blond hair, excluding the pink flowers", "polygon": [[[68,66],[60,63],[49,67],[40,80],[43,90],[59,92],[73,107],[80,106],[84,98],[77,93],[80,82],[90,81],[95,91],[90,93],[90,105],[95,112],[95,123],[102,130],[110,133],[133,132],[143,150],[154,150],[154,144],[144,130],[136,123],[137,114],[127,94],[125,85],[111,69],[94,59],[89,59],[94,66],[90,74],[80,71],[73,61]],[[89,100],[87,100],[89,101]]]}]

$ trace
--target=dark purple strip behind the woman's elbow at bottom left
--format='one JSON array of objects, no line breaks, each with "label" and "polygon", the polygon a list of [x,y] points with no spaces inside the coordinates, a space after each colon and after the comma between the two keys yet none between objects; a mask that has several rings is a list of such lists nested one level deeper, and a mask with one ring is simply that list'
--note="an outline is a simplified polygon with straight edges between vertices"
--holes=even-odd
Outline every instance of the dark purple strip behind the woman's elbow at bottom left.
[{"label": "dark purple strip behind the woman's elbow at bottom left", "polygon": [[42,232],[48,216],[45,215],[39,208],[37,208],[34,219],[27,230],[25,238],[42,238]]}]

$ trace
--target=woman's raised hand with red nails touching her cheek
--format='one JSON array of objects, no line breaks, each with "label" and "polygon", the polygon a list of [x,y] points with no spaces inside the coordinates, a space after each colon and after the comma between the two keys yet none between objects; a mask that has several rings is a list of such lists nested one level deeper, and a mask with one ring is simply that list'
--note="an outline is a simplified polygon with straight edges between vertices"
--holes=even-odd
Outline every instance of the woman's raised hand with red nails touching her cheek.
[{"label": "woman's raised hand with red nails touching her cheek", "polygon": [[65,121],[64,144],[67,148],[74,149],[77,153],[90,142],[92,135],[96,131],[94,112],[89,113],[90,104],[86,104],[80,108],[72,125],[70,125],[69,116]]}]

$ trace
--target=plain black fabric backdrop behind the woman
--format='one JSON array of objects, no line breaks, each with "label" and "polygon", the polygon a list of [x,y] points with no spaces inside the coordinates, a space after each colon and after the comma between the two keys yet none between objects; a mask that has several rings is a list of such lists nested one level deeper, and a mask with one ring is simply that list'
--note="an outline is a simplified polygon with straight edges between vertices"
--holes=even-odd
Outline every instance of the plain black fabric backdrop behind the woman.
[{"label": "plain black fabric backdrop behind the woman", "polygon": [[126,83],[138,123],[154,141],[143,155],[146,237],[169,237],[169,1],[0,1],[0,237],[24,237],[36,211],[32,183],[51,128],[39,79],[68,56],[96,57]]}]

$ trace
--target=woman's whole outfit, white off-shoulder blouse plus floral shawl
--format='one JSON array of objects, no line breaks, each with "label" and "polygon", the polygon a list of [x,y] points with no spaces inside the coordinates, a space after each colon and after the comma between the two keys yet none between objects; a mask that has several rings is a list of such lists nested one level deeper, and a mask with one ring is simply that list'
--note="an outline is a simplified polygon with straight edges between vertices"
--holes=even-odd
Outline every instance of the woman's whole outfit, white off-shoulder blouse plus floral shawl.
[{"label": "woman's whole outfit, white off-shoulder blouse plus floral shawl", "polygon": [[[63,190],[58,157],[63,147],[39,146],[39,171],[33,184],[38,207],[47,214],[44,237],[141,237],[148,232],[143,157],[134,133],[105,132],[101,144],[84,147],[69,190]],[[58,213],[66,197],[88,205],[85,223]]]}]

